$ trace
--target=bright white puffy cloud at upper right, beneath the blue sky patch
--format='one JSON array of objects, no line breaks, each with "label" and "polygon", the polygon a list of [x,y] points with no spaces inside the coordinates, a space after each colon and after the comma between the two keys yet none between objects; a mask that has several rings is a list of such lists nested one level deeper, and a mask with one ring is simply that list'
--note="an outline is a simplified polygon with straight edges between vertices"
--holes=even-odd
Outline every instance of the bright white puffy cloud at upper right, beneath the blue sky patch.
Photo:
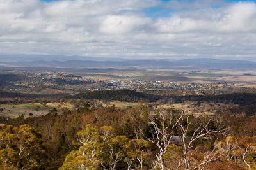
[{"label": "bright white puffy cloud at upper right, beneath the blue sky patch", "polygon": [[239,2],[225,8],[182,11],[159,18],[159,32],[234,33],[256,32],[256,4]]}]

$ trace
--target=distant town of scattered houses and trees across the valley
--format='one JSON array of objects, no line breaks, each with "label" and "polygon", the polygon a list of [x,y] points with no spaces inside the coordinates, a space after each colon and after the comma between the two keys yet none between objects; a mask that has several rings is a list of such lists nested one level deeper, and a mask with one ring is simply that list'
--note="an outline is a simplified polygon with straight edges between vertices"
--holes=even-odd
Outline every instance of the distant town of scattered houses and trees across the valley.
[{"label": "distant town of scattered houses and trees across the valley", "polygon": [[[17,73],[15,73],[17,74]],[[232,82],[182,82],[182,81],[148,81],[138,80],[132,76],[118,78],[104,78],[104,74],[68,73],[52,71],[22,71],[19,81],[9,83],[3,88],[12,92],[44,92],[70,93],[97,91],[97,90],[136,90],[164,91],[170,94],[222,94],[230,91],[256,92],[255,88],[237,86]],[[84,75],[83,75],[84,74]],[[99,76],[100,75],[100,76]],[[121,77],[121,78],[120,78]]]}]

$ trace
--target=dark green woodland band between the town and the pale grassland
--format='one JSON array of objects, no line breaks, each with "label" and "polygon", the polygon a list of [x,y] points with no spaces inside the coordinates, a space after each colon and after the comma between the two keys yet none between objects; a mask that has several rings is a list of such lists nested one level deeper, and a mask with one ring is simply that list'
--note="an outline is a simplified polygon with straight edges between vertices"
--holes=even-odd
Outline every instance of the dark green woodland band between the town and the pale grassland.
[{"label": "dark green woodland band between the town and the pale grassland", "polygon": [[148,92],[136,92],[134,90],[100,90],[95,92],[83,92],[76,95],[70,94],[24,94],[17,92],[1,92],[0,99],[19,98],[19,99],[44,99],[48,101],[68,100],[68,99],[100,99],[100,100],[118,100],[128,102],[154,102],[164,101],[164,103],[183,103],[184,101],[207,101],[209,103],[234,103],[234,104],[255,104],[256,94],[253,93],[230,93],[230,94],[205,94],[205,95],[161,95]]}]

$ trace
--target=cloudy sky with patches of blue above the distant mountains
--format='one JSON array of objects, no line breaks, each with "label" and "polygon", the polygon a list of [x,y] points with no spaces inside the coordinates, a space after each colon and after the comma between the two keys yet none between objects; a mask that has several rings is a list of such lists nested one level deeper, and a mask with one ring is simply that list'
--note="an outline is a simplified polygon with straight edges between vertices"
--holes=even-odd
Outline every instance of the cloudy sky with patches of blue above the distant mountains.
[{"label": "cloudy sky with patches of blue above the distant mountains", "polygon": [[256,3],[0,0],[0,53],[256,60]]}]

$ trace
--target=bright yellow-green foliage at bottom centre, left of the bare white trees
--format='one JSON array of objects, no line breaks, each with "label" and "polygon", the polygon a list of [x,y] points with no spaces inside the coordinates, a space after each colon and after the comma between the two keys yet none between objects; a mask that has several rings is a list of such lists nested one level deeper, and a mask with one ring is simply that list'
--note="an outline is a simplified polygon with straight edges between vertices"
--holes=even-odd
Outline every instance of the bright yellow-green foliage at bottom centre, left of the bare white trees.
[{"label": "bright yellow-green foliage at bottom centre, left of the bare white trees", "polygon": [[[102,135],[100,135],[102,134]],[[100,128],[86,125],[77,132],[80,147],[70,152],[63,169],[118,169],[118,162],[129,162],[136,167],[133,160],[142,153],[141,149],[148,146],[148,142],[138,139],[129,140],[126,136],[116,136],[115,129],[110,126]]]}]

